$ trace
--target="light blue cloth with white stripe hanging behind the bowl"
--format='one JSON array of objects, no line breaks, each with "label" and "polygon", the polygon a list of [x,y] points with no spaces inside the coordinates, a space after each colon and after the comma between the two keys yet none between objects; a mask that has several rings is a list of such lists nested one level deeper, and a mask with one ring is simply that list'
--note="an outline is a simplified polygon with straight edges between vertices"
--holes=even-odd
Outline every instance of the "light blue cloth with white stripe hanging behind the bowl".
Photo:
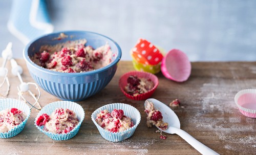
[{"label": "light blue cloth with white stripe hanging behind the bowl", "polygon": [[13,0],[9,31],[25,45],[32,39],[53,32],[45,0]]}]

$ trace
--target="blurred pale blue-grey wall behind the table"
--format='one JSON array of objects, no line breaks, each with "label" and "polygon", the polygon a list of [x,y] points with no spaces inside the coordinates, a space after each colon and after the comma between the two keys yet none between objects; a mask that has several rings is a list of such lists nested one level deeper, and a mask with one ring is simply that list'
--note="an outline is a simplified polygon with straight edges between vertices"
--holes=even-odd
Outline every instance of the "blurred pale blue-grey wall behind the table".
[{"label": "blurred pale blue-grey wall behind the table", "polygon": [[[7,30],[12,2],[0,0],[0,50],[23,43]],[[122,60],[145,38],[166,51],[180,49],[191,61],[255,61],[256,1],[253,0],[47,0],[54,31],[87,30],[119,43]]]}]

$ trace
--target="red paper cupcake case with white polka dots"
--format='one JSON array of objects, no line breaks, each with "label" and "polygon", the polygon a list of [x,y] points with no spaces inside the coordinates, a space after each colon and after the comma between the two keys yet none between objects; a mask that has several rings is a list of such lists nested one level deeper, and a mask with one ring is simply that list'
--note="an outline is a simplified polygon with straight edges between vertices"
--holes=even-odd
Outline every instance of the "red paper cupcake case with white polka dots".
[{"label": "red paper cupcake case with white polka dots", "polygon": [[151,42],[140,38],[132,49],[132,55],[142,64],[156,65],[162,61],[163,55]]}]

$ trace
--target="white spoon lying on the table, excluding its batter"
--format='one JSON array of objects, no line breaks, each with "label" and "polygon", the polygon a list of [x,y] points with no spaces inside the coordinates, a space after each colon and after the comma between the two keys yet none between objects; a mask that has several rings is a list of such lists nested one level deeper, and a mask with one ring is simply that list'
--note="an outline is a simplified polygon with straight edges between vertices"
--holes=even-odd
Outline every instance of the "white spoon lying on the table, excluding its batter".
[{"label": "white spoon lying on the table, excluding its batter", "polygon": [[155,106],[156,110],[159,110],[162,113],[163,121],[168,123],[168,128],[166,130],[162,130],[163,132],[166,132],[168,134],[177,134],[181,138],[183,138],[188,144],[193,146],[196,150],[198,150],[202,154],[219,154],[215,152],[214,150],[210,149],[209,147],[205,146],[198,140],[196,140],[194,137],[187,134],[187,132],[180,129],[180,121],[178,116],[174,113],[172,109],[170,109],[167,105],[164,103],[156,100],[156,99],[147,99],[145,101],[145,107],[148,102],[152,102]]}]

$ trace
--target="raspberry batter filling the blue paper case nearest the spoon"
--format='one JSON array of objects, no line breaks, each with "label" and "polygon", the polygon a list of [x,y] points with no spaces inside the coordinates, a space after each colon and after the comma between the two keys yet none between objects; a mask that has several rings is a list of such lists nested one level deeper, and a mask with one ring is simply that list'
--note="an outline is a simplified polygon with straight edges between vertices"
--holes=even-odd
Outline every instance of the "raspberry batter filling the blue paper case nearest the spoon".
[{"label": "raspberry batter filling the blue paper case nearest the spoon", "polygon": [[125,116],[122,109],[114,109],[111,113],[106,109],[102,110],[97,114],[96,122],[110,132],[120,132],[134,126],[131,118]]}]

